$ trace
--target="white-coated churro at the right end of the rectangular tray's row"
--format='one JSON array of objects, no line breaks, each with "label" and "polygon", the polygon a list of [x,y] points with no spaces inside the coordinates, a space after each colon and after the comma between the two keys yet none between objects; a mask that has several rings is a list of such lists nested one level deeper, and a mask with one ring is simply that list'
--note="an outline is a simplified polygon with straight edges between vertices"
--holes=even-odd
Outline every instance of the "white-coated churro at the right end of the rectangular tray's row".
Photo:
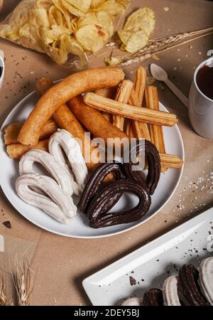
[{"label": "white-coated churro at the right end of the rectangular tray's row", "polygon": [[199,281],[204,296],[213,306],[213,257],[202,260],[200,264]]}]

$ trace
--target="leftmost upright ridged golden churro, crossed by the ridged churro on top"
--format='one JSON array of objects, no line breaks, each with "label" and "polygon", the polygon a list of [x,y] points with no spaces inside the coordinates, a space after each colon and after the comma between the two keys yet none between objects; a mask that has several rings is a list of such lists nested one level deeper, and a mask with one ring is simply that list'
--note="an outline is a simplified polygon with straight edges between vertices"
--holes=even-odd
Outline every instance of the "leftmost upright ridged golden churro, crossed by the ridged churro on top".
[{"label": "leftmost upright ridged golden churro, crossed by the ridged churro on top", "polygon": [[[130,80],[124,80],[123,82],[121,82],[121,85],[116,92],[115,100],[127,103],[129,101],[132,89],[133,82],[131,82]],[[120,117],[118,115],[112,116],[112,124],[121,129],[121,131],[124,131],[124,120],[124,117]]]}]

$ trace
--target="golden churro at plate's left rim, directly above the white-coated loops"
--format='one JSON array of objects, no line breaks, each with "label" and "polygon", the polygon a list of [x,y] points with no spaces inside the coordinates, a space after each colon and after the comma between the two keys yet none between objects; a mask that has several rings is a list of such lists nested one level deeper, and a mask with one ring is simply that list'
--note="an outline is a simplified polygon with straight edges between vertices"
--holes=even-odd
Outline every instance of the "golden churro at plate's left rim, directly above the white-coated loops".
[{"label": "golden churro at plate's left rim, directly above the white-coated loops", "polygon": [[35,146],[24,146],[23,144],[10,144],[9,146],[6,146],[6,153],[12,159],[21,159],[21,156],[23,156],[23,154],[26,154],[26,152],[31,149],[40,149],[48,151],[48,142],[49,139],[41,140]]}]

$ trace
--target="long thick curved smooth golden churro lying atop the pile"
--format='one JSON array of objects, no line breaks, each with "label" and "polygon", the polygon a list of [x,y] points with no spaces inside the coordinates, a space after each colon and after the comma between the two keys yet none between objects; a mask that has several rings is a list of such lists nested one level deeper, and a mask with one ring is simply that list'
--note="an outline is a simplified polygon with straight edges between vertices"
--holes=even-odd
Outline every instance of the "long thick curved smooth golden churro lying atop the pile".
[{"label": "long thick curved smooth golden churro lying atop the pile", "polygon": [[82,92],[115,87],[122,80],[124,72],[118,67],[94,68],[68,76],[40,97],[18,134],[18,142],[30,146],[38,144],[40,132],[58,107]]}]

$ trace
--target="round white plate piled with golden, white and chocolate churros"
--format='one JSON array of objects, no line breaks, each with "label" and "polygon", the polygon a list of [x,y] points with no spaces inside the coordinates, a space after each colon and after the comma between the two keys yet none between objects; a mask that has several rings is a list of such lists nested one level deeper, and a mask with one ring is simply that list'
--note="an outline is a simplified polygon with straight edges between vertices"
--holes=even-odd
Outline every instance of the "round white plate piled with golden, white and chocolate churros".
[{"label": "round white plate piled with golden, white and chocolate churros", "polygon": [[178,118],[146,86],[99,67],[53,82],[13,108],[1,128],[1,188],[23,217],[58,235],[101,238],[158,213],[185,159]]}]

